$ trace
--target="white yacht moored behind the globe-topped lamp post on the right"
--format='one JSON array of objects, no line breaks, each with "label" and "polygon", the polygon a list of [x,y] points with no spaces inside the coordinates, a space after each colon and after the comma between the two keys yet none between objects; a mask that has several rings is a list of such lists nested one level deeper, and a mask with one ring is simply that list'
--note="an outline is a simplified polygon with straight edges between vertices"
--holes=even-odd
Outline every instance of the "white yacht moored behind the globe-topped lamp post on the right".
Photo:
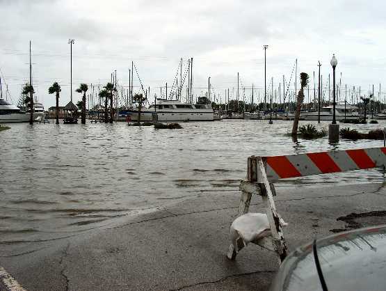
[{"label": "white yacht moored behind the globe-topped lamp post on the right", "polygon": [[[360,118],[360,114],[357,111],[357,107],[346,104],[335,105],[335,118],[337,120],[355,120]],[[346,114],[345,114],[346,110]],[[321,108],[321,120],[332,120],[332,105]],[[302,120],[318,120],[318,111],[303,112],[300,114]]]}]

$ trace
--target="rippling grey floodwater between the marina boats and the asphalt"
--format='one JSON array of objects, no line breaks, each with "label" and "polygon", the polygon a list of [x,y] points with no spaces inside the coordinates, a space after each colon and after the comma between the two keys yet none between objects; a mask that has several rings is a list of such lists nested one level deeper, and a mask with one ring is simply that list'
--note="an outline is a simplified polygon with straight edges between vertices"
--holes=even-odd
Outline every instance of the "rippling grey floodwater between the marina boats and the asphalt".
[{"label": "rippling grey floodwater between the marina boats and the asphalt", "polygon": [[[186,197],[238,195],[250,155],[383,146],[383,141],[330,145],[328,138],[294,142],[286,135],[292,122],[281,120],[182,126],[10,125],[0,132],[0,252],[111,226]],[[368,130],[385,123],[349,126]],[[371,170],[294,179],[278,187],[381,181],[382,173]]]}]

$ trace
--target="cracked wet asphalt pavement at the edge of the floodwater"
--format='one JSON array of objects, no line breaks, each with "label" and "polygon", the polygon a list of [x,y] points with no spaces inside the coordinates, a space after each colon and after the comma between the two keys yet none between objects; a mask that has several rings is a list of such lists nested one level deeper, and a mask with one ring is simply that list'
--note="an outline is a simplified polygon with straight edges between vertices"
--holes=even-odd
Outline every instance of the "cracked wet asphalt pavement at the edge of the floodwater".
[{"label": "cracked wet asphalt pavement at the edge of the floodwater", "polygon": [[[284,235],[290,250],[357,225],[338,217],[386,210],[383,184],[293,191],[278,187],[275,198],[289,223]],[[188,198],[122,226],[0,257],[0,267],[26,290],[267,290],[278,269],[273,253],[252,244],[235,261],[225,258],[239,196],[225,191]],[[250,210],[264,211],[261,198],[252,198]],[[356,222],[368,226],[371,217]]]}]

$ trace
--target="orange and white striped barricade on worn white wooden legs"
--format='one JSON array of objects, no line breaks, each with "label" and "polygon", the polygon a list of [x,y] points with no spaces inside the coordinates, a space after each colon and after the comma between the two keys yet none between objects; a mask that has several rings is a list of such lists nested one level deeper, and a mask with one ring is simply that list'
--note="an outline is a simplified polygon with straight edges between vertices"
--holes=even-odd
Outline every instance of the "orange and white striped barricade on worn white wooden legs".
[{"label": "orange and white striped barricade on worn white wooden legs", "polygon": [[[273,182],[284,178],[296,178],[307,175],[320,175],[367,168],[386,166],[386,148],[364,148],[357,150],[336,150],[330,152],[311,152],[300,155],[282,155],[273,157],[248,157],[247,179],[241,181],[241,200],[239,216],[249,209],[252,194],[262,196],[266,204],[266,214],[271,228],[271,235],[253,242],[270,251],[278,253],[282,262],[287,256],[287,244],[276,211],[275,187]],[[238,250],[233,244],[227,252],[227,258],[234,260],[243,249],[241,237],[236,241]]]}]

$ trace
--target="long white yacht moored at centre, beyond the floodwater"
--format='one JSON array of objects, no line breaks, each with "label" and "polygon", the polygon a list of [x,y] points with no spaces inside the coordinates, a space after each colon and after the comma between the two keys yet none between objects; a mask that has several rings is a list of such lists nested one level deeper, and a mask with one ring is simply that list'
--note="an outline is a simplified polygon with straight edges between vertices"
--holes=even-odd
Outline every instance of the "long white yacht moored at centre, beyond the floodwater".
[{"label": "long white yacht moored at centre, beyond the floodwater", "polygon": [[[122,112],[123,113],[123,112]],[[138,121],[138,110],[125,112],[128,121]],[[155,104],[142,109],[140,121],[213,121],[214,112],[211,104],[187,104],[177,100],[156,99]]]}]

